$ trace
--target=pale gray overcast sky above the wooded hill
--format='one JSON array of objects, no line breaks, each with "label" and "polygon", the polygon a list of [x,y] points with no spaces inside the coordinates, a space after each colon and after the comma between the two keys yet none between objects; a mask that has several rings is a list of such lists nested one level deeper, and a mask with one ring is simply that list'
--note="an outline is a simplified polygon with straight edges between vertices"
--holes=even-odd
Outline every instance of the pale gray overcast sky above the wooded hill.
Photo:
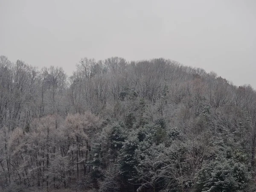
[{"label": "pale gray overcast sky above the wooded hill", "polygon": [[0,55],[68,75],[82,57],[163,57],[256,88],[255,0],[0,0],[0,26]]}]

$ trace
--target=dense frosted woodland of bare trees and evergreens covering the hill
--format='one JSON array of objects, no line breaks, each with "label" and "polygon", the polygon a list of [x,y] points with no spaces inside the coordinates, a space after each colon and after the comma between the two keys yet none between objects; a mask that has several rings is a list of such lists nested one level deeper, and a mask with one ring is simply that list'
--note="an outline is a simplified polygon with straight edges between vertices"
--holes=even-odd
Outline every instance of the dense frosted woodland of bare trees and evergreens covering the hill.
[{"label": "dense frosted woodland of bare trees and evergreens covering the hill", "polygon": [[68,77],[0,57],[0,191],[253,192],[255,149],[250,85],[163,58]]}]

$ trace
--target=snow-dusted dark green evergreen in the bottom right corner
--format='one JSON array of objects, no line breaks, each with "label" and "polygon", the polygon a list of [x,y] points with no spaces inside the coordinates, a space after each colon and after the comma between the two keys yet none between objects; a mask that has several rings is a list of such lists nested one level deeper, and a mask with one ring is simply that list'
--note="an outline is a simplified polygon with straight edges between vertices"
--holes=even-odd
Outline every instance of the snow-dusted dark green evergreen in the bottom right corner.
[{"label": "snow-dusted dark green evergreen in the bottom right corner", "polygon": [[[222,134],[225,135],[225,134]],[[215,155],[205,162],[197,173],[197,191],[236,192],[244,191],[250,183],[252,173],[247,157],[232,141],[232,134],[222,140],[217,137],[213,145]]]}]

